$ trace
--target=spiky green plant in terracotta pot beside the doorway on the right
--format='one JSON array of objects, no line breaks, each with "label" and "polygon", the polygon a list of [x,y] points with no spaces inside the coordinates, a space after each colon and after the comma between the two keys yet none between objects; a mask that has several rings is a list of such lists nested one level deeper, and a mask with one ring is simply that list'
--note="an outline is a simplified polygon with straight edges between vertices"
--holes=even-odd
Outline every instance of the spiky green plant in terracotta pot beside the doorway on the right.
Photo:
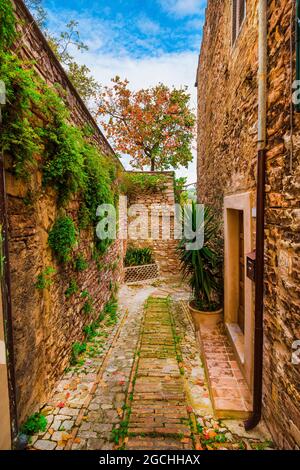
[{"label": "spiky green plant in terracotta pot beside the doorway on the right", "polygon": [[[219,225],[211,208],[205,207],[204,217],[197,217],[198,208],[195,202],[185,208],[185,225],[192,229],[193,238],[185,235],[178,246],[182,273],[194,294],[189,308],[197,329],[200,325],[214,327],[223,317]],[[200,233],[204,243],[195,249],[196,234]]]}]

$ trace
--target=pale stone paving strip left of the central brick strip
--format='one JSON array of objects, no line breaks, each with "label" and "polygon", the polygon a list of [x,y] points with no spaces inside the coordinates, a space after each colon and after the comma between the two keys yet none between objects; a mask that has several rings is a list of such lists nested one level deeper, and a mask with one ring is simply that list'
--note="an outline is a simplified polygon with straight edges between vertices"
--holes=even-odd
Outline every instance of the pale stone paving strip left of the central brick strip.
[{"label": "pale stone paving strip left of the central brick strip", "polygon": [[106,327],[103,350],[86,358],[58,382],[42,409],[46,432],[33,436],[34,450],[110,450],[111,432],[122,419],[126,390],[143,315],[143,304],[155,288],[119,293],[119,322]]}]

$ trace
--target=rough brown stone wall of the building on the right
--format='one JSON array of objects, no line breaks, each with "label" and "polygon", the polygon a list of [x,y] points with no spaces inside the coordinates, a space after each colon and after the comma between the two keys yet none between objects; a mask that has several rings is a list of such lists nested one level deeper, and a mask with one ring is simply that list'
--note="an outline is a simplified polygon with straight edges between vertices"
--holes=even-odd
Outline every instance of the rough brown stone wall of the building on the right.
[{"label": "rough brown stone wall of the building on the right", "polygon": [[[268,2],[263,410],[273,439],[285,449],[300,446],[300,366],[291,359],[293,342],[300,339],[300,118],[291,115],[290,107],[295,73],[292,3]],[[198,197],[219,207],[220,215],[224,196],[245,191],[255,195],[257,5],[257,0],[247,1],[247,18],[232,48],[231,1],[208,1],[198,69]]]}]

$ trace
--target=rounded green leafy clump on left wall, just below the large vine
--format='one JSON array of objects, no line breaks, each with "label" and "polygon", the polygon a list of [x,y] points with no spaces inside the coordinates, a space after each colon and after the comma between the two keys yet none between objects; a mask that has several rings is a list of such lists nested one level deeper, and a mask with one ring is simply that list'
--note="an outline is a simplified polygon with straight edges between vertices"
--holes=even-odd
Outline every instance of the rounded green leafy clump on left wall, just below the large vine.
[{"label": "rounded green leafy clump on left wall, just below the large vine", "polygon": [[76,228],[70,217],[56,220],[49,233],[48,243],[60,263],[70,261],[70,254],[76,243]]}]

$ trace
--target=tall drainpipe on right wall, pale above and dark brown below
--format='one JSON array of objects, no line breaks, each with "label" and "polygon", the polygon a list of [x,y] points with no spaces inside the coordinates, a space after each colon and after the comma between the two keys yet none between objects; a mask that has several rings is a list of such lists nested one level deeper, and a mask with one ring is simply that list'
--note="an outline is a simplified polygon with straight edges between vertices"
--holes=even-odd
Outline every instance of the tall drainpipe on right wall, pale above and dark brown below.
[{"label": "tall drainpipe on right wall, pale above and dark brown below", "polygon": [[258,155],[256,202],[256,284],[254,332],[253,413],[245,429],[255,428],[262,415],[263,379],[263,312],[264,312],[264,228],[265,228],[265,167],[267,140],[267,0],[258,2]]}]

